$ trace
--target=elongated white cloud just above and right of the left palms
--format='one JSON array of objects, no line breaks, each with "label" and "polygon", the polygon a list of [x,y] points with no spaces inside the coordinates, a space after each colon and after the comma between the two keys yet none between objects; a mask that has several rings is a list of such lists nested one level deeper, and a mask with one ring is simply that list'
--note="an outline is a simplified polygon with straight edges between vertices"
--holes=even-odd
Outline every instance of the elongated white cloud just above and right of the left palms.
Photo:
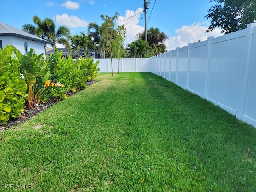
[{"label": "elongated white cloud just above and right of the left palms", "polygon": [[86,20],[82,20],[74,15],[68,15],[66,13],[62,15],[56,15],[56,23],[58,25],[65,25],[68,27],[86,27],[88,22]]}]

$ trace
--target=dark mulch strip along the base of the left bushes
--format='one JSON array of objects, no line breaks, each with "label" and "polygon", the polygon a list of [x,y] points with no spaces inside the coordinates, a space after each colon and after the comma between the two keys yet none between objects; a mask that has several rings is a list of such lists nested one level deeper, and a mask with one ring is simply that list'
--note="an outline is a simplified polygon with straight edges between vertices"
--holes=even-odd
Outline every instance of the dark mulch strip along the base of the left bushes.
[{"label": "dark mulch strip along the base of the left bushes", "polygon": [[[91,82],[86,82],[87,86],[90,86],[91,84],[94,84],[95,82],[98,82],[98,80],[95,81],[91,81]],[[77,93],[77,92],[76,92]],[[74,92],[68,92],[67,95],[71,96],[75,94]],[[55,99],[55,98],[51,98],[48,100],[47,103],[40,103],[39,106],[37,108],[34,109],[30,109],[30,110],[24,110],[24,112],[18,116],[16,119],[10,119],[6,125],[0,125],[0,131],[4,131],[7,130],[10,127],[13,126],[17,126],[18,123],[24,122],[26,120],[29,120],[31,118],[34,118],[36,116],[36,114],[46,110],[47,108],[49,108],[50,106],[58,103],[59,101],[61,101],[61,99]]]}]

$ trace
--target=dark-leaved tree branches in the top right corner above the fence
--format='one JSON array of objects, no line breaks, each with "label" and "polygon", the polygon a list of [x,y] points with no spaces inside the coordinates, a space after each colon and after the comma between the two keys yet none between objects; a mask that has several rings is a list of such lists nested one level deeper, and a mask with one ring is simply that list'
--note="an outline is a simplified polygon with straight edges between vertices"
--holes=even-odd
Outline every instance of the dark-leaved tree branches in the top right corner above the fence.
[{"label": "dark-leaved tree branches in the top right corner above the fence", "polygon": [[205,16],[211,19],[206,32],[216,27],[222,29],[222,33],[228,34],[246,28],[246,25],[256,22],[255,0],[211,0],[216,2]]}]

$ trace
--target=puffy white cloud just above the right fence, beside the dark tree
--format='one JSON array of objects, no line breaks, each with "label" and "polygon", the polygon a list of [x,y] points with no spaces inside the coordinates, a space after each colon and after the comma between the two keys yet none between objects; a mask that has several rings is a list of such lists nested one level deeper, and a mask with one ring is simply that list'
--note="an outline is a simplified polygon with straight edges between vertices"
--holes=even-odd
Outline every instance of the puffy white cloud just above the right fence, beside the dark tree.
[{"label": "puffy white cloud just above the right fence, beside the dark tree", "polygon": [[187,46],[188,43],[205,41],[207,37],[213,36],[218,37],[221,34],[221,29],[215,28],[213,31],[206,33],[208,29],[207,22],[198,22],[192,23],[190,26],[182,26],[179,29],[176,29],[175,32],[177,36],[170,37],[166,40],[165,44],[167,46],[167,50],[174,50],[176,47],[184,47]]}]

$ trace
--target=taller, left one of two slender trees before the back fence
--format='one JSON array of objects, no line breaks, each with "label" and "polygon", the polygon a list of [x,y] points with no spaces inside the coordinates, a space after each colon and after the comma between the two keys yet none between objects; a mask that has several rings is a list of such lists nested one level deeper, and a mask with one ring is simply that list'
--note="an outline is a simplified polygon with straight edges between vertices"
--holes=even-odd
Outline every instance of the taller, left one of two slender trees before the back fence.
[{"label": "taller, left one of two slender trees before the back fence", "polygon": [[105,42],[105,50],[107,50],[110,53],[110,59],[111,59],[111,70],[112,70],[112,76],[113,76],[113,62],[112,62],[112,46],[114,44],[114,38],[117,34],[116,30],[114,29],[114,21],[117,19],[117,16],[119,14],[115,13],[114,16],[110,17],[106,15],[101,15],[100,17],[104,21],[102,25],[100,26],[100,32],[102,36],[102,40]]}]

